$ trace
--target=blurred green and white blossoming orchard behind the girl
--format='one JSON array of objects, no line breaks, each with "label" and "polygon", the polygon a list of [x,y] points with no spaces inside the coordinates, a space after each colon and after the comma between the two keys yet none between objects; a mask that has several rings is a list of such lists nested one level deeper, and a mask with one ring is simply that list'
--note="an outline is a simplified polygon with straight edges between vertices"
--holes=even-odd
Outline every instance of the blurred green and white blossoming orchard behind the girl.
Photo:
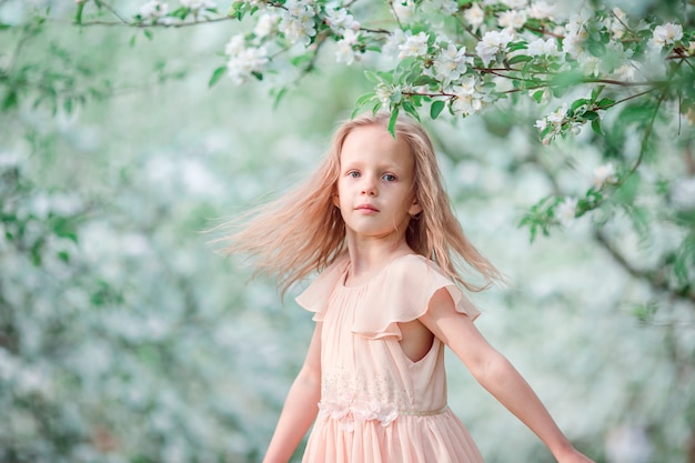
[{"label": "blurred green and white blossoming orchard behind the girl", "polygon": [[[305,178],[371,84],[328,53],[274,104],[261,82],[208,87],[232,23],[148,38],[72,14],[0,1],[0,92],[8,70],[31,77],[0,111],[0,462],[260,462],[313,322],[301,285],[280,300],[210,230]],[[537,118],[425,121],[464,229],[510,279],[472,294],[479,328],[597,462],[693,462],[695,303],[649,278],[683,233],[659,214],[695,209],[692,125],[664,122],[653,188],[625,193],[645,217],[600,211],[532,243],[524,211],[602,162],[590,135],[542,147]],[[486,461],[552,462],[449,355]]]}]

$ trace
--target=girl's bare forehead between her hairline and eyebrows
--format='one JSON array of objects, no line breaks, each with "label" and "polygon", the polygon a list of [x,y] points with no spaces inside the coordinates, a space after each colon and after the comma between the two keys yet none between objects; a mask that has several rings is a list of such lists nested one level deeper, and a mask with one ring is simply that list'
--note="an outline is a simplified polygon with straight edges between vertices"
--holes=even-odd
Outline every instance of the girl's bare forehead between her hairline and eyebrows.
[{"label": "girl's bare forehead between her hairline and eyebrows", "polygon": [[404,135],[394,139],[381,125],[372,124],[353,129],[343,141],[341,164],[373,162],[412,169],[414,159]]}]

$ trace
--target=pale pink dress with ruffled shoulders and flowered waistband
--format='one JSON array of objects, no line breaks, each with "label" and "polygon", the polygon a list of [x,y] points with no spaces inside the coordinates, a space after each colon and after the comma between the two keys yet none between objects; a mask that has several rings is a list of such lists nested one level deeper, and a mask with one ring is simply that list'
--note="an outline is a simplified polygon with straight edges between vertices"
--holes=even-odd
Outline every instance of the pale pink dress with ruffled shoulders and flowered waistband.
[{"label": "pale pink dress with ruffled shoulders and flowered waistband", "polygon": [[348,256],[296,301],[323,322],[321,402],[303,463],[482,463],[463,423],[446,405],[444,344],[417,362],[401,350],[399,322],[427,310],[445,288],[456,310],[480,312],[432,261],[407,254],[370,282],[345,286]]}]

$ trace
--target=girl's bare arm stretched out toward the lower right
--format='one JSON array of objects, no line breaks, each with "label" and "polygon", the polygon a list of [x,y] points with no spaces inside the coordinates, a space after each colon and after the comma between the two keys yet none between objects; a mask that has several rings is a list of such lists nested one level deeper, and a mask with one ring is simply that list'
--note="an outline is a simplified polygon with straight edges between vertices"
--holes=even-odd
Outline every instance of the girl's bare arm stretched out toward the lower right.
[{"label": "girl's bare arm stretched out toward the lower right", "polygon": [[469,316],[456,312],[445,289],[434,294],[420,321],[454,351],[485,390],[547,445],[558,462],[592,462],[572,446],[510,361],[490,345]]}]

